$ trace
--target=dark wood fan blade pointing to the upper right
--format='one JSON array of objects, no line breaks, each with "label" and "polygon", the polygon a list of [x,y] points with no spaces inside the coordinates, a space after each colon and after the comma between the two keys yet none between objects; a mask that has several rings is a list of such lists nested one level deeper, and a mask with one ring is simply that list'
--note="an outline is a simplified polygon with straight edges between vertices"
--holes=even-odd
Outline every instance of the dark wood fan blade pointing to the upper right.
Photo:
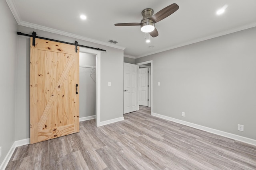
[{"label": "dark wood fan blade pointing to the upper right", "polygon": [[163,20],[164,18],[170,16],[171,14],[173,14],[175,11],[177,11],[179,9],[179,6],[177,4],[171,4],[167,7],[165,7],[164,9],[160,10],[159,12],[157,12],[156,14],[154,14],[150,20],[152,20],[154,23],[157,23],[161,20]]}]

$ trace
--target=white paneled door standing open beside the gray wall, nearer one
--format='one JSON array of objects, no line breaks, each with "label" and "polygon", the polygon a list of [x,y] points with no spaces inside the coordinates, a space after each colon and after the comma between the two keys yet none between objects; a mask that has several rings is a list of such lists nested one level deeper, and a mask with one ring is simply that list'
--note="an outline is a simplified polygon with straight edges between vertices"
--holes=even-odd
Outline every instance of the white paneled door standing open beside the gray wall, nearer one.
[{"label": "white paneled door standing open beside the gray wall, nearer one", "polygon": [[138,65],[124,63],[124,114],[138,109]]}]

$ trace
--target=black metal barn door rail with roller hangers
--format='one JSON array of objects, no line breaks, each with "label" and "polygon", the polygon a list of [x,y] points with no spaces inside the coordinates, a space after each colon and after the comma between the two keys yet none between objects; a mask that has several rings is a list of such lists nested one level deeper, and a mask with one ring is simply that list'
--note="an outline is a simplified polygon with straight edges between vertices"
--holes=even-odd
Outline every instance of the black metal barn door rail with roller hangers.
[{"label": "black metal barn door rail with roller hangers", "polygon": [[94,47],[88,47],[88,46],[85,46],[85,45],[80,45],[80,44],[78,44],[77,41],[75,41],[75,43],[68,43],[68,42],[59,41],[59,40],[56,40],[56,39],[50,39],[50,38],[45,38],[45,37],[38,37],[38,36],[36,36],[36,32],[34,32],[34,31],[33,31],[32,35],[25,34],[25,33],[22,33],[22,32],[17,32],[17,35],[24,35],[24,36],[28,36],[28,37],[33,37],[32,45],[34,45],[34,46],[36,45],[36,38],[39,38],[39,39],[45,39],[45,40],[49,40],[49,41],[55,41],[55,42],[58,42],[58,43],[75,45],[76,46],[76,53],[77,53],[77,46],[85,47],[85,48],[89,48],[89,49],[94,49],[94,50],[99,50],[99,51],[105,51],[106,52],[106,50],[104,50],[104,49],[99,49],[99,48],[94,48]]}]

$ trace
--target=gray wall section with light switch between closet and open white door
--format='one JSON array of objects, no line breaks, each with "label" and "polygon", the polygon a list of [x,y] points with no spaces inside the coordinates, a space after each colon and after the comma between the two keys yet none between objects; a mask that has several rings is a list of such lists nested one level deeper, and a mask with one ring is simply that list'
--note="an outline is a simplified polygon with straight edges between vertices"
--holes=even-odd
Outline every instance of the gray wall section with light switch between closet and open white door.
[{"label": "gray wall section with light switch between closet and open white door", "polygon": [[[124,115],[124,52],[109,48],[107,53],[107,56],[102,55],[101,57],[102,95],[100,101],[103,114],[101,114],[100,121]],[[111,82],[111,86],[108,86],[108,82]]]}]

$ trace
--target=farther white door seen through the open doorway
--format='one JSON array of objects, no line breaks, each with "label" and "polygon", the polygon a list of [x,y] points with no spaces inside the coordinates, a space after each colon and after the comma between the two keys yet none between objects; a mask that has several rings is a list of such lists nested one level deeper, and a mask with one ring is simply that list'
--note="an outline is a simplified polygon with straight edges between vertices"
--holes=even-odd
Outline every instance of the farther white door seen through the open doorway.
[{"label": "farther white door seen through the open doorway", "polygon": [[139,105],[148,106],[148,68],[139,68]]}]

